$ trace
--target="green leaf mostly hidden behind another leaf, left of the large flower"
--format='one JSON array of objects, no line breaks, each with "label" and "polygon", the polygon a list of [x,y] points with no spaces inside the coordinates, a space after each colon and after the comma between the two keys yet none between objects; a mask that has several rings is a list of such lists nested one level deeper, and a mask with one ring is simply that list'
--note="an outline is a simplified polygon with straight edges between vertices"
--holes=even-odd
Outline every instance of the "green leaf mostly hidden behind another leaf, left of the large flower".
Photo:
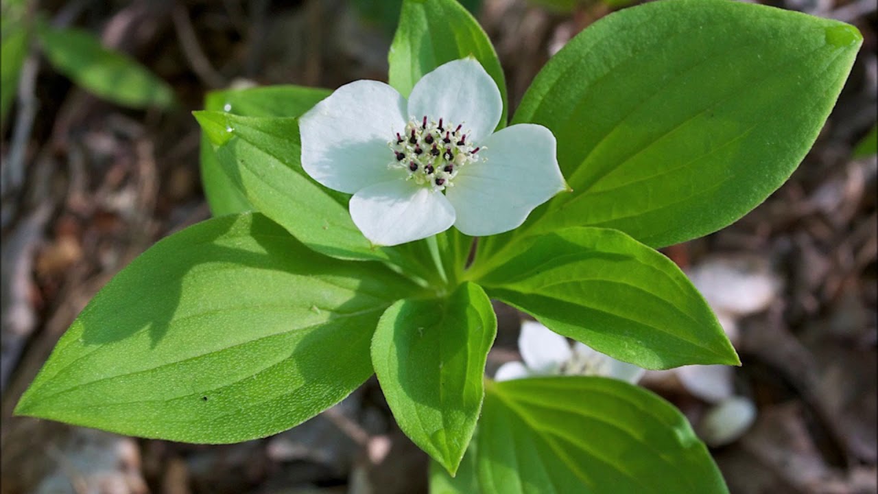
[{"label": "green leaf mostly hidden behind another leaf, left of the large flower", "polygon": [[[329,92],[292,85],[211,91],[205,98],[205,110],[247,117],[299,117],[329,96]],[[201,182],[214,216],[255,209],[222,171],[205,135],[201,137]]]}]

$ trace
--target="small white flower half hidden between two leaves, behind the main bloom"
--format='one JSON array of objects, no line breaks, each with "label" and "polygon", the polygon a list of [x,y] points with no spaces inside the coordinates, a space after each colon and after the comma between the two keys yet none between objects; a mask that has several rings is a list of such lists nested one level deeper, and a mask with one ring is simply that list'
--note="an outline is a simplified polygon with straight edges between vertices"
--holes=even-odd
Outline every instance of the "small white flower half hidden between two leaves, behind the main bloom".
[{"label": "small white flower half hidden between two leaves, behind the main bloom", "polygon": [[615,360],[609,355],[576,342],[572,348],[567,339],[536,321],[522,322],[518,337],[522,362],[507,362],[494,374],[496,381],[522,379],[535,375],[600,375],[634,384],[644,369]]}]

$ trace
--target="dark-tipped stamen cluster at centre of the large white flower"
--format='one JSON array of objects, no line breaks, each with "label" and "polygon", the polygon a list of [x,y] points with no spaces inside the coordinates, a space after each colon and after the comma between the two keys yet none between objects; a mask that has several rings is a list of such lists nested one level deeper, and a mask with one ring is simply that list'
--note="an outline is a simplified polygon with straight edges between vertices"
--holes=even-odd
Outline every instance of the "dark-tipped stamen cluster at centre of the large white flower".
[{"label": "dark-tipped stamen cluster at centre of the large white flower", "polygon": [[388,168],[407,173],[407,180],[434,191],[454,185],[454,178],[464,166],[479,160],[478,147],[466,136],[463,125],[451,122],[408,120],[403,132],[388,142],[393,159]]}]

